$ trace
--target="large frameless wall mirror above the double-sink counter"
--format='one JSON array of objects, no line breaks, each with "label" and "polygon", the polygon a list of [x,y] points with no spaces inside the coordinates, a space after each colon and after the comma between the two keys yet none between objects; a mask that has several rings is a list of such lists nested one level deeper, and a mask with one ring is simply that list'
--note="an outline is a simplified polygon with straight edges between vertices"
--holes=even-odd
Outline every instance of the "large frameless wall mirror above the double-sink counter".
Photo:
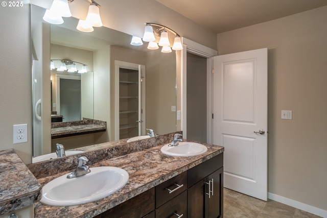
[{"label": "large frameless wall mirror above the double-sink counter", "polygon": [[[64,18],[62,25],[50,25],[42,20],[44,12],[44,8],[31,6],[32,104],[36,113],[33,118],[33,157],[53,153],[57,142],[64,141],[67,149],[76,149],[129,137],[126,130],[118,134],[121,127],[117,120],[122,123],[122,120],[133,116],[129,111],[134,109],[126,106],[125,97],[134,96],[131,94],[134,88],[128,85],[134,83],[134,66],[143,70],[140,78],[144,92],[139,98],[143,101],[141,111],[146,120],[144,130],[153,129],[159,135],[176,131],[174,51],[161,53],[160,50],[148,50],[146,43],[142,46],[130,45],[132,36],[106,27],[95,28],[91,33],[80,32],[76,29],[78,19],[74,17]],[[51,60],[55,65],[52,70]],[[67,67],[75,64],[78,70],[85,65],[87,72],[57,71],[62,60]],[[126,67],[121,67],[121,72],[118,72],[120,67],[117,63]],[[124,86],[130,88],[124,90]],[[75,95],[68,96],[69,91]],[[118,92],[121,95],[126,92],[125,99]],[[41,104],[38,104],[40,99]],[[120,112],[117,113],[117,110]],[[102,120],[107,122],[107,130],[88,136],[51,139],[51,114],[53,117],[62,116],[62,122],[83,117]],[[121,118],[118,119],[117,114]],[[136,123],[138,118],[135,119]],[[88,139],[85,140],[85,137]]]}]

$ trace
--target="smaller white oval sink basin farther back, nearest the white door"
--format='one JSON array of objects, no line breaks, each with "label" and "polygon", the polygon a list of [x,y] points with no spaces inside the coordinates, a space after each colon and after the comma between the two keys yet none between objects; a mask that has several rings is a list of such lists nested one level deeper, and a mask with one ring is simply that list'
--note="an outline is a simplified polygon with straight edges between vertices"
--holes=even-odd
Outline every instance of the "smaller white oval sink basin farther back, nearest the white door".
[{"label": "smaller white oval sink basin farther back, nearest the white door", "polygon": [[196,142],[182,141],[178,146],[169,147],[169,144],[162,146],[161,152],[170,156],[189,157],[203,154],[208,149],[203,144]]}]

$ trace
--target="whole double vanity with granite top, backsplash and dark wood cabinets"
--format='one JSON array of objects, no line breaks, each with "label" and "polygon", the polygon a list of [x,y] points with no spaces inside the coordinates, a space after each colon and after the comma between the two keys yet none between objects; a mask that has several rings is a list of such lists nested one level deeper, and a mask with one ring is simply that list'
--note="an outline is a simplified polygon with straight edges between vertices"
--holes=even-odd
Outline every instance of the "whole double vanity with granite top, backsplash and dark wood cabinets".
[{"label": "whole double vanity with granite top, backsplash and dark wood cabinets", "polygon": [[72,172],[80,156],[89,159],[90,167],[116,166],[129,174],[121,190],[95,202],[66,207],[37,202],[35,217],[166,217],[174,212],[183,217],[222,217],[224,148],[203,143],[207,152],[198,156],[161,153],[173,135],[120,140],[119,145],[108,142],[100,150],[28,165],[41,185]]}]

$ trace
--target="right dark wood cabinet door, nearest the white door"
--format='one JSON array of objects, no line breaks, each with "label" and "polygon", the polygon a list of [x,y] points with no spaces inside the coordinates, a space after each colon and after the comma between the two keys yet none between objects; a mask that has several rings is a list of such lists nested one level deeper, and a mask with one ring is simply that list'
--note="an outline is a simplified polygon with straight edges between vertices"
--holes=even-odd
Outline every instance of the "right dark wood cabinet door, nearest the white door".
[{"label": "right dark wood cabinet door, nearest the white door", "polygon": [[[206,179],[205,183],[205,215],[208,218],[222,217],[223,214],[223,167]],[[210,185],[210,192],[209,192]],[[209,195],[210,194],[210,195]],[[210,198],[209,198],[210,197]]]}]

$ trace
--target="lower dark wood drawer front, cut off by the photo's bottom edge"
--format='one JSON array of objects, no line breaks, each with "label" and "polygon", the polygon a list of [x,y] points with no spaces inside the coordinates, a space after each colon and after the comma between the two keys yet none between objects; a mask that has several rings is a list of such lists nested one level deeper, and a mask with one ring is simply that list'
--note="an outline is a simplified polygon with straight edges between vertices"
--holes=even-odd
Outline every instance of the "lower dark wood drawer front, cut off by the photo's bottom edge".
[{"label": "lower dark wood drawer front, cut off by the photo's bottom edge", "polygon": [[155,217],[188,217],[188,192],[185,190],[155,210]]}]

